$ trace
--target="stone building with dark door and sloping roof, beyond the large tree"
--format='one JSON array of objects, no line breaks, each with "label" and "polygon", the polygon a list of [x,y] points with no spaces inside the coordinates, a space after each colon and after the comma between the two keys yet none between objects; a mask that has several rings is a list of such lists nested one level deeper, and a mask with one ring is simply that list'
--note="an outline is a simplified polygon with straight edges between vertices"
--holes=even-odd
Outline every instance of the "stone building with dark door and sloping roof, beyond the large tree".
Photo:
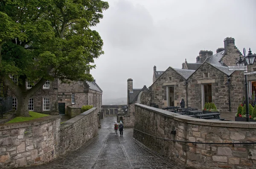
[{"label": "stone building with dark door and sloping roof, beyond the large tree", "polygon": [[68,114],[67,107],[78,108],[83,105],[93,105],[101,112],[102,90],[96,80],[72,81],[70,84],[58,81],[58,106],[60,114]]}]

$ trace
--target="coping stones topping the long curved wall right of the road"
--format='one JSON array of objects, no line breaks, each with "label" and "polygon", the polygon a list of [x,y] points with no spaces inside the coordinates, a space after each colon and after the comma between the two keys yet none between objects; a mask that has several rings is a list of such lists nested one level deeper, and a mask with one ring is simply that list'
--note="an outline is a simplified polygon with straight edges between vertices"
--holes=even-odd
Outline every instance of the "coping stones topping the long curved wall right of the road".
[{"label": "coping stones topping the long curved wall right of the road", "polygon": [[177,121],[182,121],[188,124],[197,124],[204,126],[215,126],[215,127],[234,127],[234,128],[253,128],[256,129],[256,122],[244,122],[244,121],[215,121],[207,119],[192,118],[186,115],[180,115],[177,113],[172,113],[167,110],[158,109],[155,107],[146,106],[144,104],[135,104],[138,107],[153,111],[160,115],[175,119]]}]

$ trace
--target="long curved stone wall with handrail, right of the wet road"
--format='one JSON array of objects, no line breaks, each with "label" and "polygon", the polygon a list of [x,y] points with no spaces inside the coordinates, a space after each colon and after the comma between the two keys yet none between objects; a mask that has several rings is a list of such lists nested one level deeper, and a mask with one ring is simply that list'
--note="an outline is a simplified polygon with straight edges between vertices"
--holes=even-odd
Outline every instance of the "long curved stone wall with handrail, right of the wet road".
[{"label": "long curved stone wall with handrail, right of the wet road", "polygon": [[[205,143],[256,142],[256,123],[191,118],[135,104],[134,129],[159,138]],[[175,134],[171,134],[176,131]],[[134,138],[160,155],[195,169],[255,169],[256,144],[165,141],[134,130]]]}]

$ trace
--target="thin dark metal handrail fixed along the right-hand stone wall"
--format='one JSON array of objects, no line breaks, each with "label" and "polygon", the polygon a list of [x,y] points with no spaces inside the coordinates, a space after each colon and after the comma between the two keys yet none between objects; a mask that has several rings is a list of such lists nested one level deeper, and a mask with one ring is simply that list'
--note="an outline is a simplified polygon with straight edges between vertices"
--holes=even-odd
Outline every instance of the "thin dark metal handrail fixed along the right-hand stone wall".
[{"label": "thin dark metal handrail fixed along the right-hand stone wall", "polygon": [[[138,132],[142,132],[146,135],[150,135],[146,132],[143,132],[143,131],[140,131],[140,130],[137,130],[137,129],[133,129],[133,130],[136,130]],[[150,135],[151,137],[154,137],[154,138],[159,138],[159,139],[162,139],[164,141],[173,141],[173,142],[181,142],[181,143],[192,143],[193,145],[196,145],[196,144],[256,144],[256,142],[246,142],[246,143],[203,143],[203,142],[195,142],[195,141],[180,141],[180,140],[173,140],[173,139],[169,139],[169,138],[161,138],[161,137],[157,137],[157,136],[154,136],[154,135]]]}]

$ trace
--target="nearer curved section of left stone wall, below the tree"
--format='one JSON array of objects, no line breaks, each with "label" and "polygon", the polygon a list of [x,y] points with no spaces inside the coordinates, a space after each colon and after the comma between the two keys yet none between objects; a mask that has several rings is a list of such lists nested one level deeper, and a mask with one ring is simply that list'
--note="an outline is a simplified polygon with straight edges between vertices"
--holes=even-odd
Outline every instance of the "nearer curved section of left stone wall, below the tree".
[{"label": "nearer curved section of left stone wall, below the tree", "polygon": [[0,168],[47,163],[57,157],[59,116],[0,124]]}]

